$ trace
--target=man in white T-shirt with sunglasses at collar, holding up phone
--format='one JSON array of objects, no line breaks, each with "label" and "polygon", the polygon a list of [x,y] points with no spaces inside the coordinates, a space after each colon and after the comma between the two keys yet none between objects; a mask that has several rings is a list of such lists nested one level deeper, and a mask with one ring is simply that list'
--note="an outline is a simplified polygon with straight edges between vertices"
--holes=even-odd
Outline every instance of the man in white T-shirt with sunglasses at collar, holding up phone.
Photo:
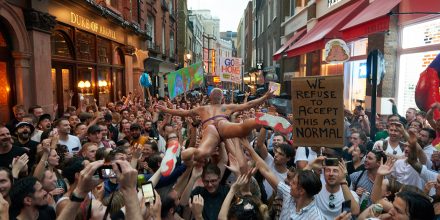
[{"label": "man in white T-shirt with sunglasses at collar, holding up phone", "polygon": [[339,166],[325,166],[323,169],[325,185],[315,196],[315,202],[325,219],[335,219],[341,214],[342,203],[348,200],[351,203],[351,214],[358,215],[359,196],[347,185],[345,163],[339,162]]}]

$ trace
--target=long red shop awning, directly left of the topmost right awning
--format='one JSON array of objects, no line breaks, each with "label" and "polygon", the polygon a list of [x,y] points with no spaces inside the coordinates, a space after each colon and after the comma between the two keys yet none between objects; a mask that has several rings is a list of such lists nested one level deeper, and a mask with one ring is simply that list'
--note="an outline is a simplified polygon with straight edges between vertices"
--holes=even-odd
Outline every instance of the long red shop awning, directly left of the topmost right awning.
[{"label": "long red shop awning, directly left of the topmost right awning", "polygon": [[314,50],[323,49],[326,40],[342,37],[339,32],[341,26],[345,25],[350,18],[365,8],[367,2],[368,1],[365,0],[359,0],[319,20],[304,37],[287,49],[287,57],[298,56]]}]

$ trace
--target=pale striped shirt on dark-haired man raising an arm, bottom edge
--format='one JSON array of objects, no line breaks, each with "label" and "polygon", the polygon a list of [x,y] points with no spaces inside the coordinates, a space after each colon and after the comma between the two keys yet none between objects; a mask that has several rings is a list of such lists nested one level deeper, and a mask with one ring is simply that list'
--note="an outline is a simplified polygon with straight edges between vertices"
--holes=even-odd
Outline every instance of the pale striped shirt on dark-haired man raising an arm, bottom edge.
[{"label": "pale striped shirt on dark-haired man raising an arm, bottom edge", "polygon": [[278,195],[283,197],[283,208],[281,209],[280,220],[325,220],[321,211],[313,200],[309,205],[296,212],[295,201],[290,195],[290,187],[284,182],[278,183]]}]

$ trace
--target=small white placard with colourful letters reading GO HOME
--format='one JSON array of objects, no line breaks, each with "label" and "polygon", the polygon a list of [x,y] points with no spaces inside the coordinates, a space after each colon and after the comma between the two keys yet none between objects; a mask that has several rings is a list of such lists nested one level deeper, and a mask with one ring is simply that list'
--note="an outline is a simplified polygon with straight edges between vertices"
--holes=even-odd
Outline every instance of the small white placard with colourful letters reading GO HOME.
[{"label": "small white placard with colourful letters reading GO HOME", "polygon": [[241,83],[241,58],[220,57],[218,72],[223,82]]}]

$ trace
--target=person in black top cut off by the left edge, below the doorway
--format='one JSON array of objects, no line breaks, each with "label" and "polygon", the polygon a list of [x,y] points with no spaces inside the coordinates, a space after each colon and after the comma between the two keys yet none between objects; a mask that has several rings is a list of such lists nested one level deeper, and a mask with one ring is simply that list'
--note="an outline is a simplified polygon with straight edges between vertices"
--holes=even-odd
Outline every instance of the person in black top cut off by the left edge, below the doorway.
[{"label": "person in black top cut off by the left edge, below the doorway", "polygon": [[0,167],[11,168],[12,161],[26,153],[24,148],[13,146],[8,128],[0,126]]}]

